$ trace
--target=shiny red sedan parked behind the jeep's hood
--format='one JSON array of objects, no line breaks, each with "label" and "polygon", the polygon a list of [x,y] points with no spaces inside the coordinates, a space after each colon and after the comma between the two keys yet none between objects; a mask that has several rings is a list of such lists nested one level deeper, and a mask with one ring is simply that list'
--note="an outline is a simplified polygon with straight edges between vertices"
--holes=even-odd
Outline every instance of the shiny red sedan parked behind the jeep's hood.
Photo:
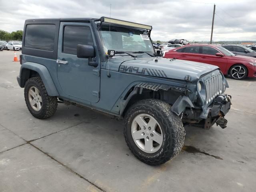
[{"label": "shiny red sedan parked behind the jeep's hood", "polygon": [[175,58],[216,65],[224,75],[234,79],[256,77],[256,59],[235,55],[216,45],[194,44],[174,48],[164,54],[164,58]]}]

